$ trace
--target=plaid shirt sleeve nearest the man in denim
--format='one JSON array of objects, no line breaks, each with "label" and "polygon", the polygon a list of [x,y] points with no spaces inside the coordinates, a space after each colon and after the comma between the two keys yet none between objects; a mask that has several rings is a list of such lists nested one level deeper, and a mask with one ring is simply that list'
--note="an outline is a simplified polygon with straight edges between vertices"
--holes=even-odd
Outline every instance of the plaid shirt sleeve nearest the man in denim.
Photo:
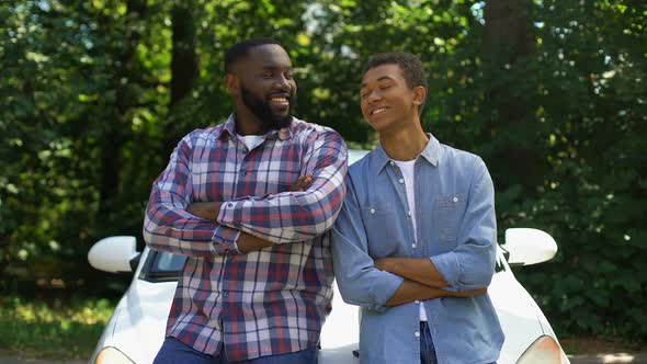
[{"label": "plaid shirt sleeve nearest the man in denim", "polygon": [[302,174],[313,174],[306,191],[229,201],[217,221],[274,243],[309,240],[330,229],[345,194],[348,150],[332,129],[313,133],[305,144]]}]

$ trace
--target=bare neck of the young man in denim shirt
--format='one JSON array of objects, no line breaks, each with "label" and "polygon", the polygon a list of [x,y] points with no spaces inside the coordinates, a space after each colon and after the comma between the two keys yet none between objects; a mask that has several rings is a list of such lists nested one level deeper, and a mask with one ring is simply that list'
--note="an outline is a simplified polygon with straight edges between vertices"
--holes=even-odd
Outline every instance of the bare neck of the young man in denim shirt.
[{"label": "bare neck of the young man in denim shirt", "polygon": [[422,130],[420,122],[410,123],[410,126],[397,130],[383,130],[379,133],[379,144],[387,156],[395,160],[412,160],[418,157],[429,143],[429,137]]}]

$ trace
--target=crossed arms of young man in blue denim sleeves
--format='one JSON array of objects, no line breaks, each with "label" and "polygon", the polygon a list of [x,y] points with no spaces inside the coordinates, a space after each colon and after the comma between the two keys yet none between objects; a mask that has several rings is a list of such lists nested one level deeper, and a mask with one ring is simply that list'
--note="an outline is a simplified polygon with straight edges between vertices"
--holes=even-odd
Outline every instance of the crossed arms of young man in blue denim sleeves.
[{"label": "crossed arms of young man in blue denim sleeves", "polygon": [[[475,159],[469,202],[459,225],[456,248],[429,258],[368,254],[364,221],[353,186],[347,178],[347,197],[332,229],[332,257],[339,289],[345,302],[383,311],[413,300],[469,297],[485,294],[493,275],[496,220],[493,187],[485,163]],[[362,183],[362,182],[360,182]]]}]

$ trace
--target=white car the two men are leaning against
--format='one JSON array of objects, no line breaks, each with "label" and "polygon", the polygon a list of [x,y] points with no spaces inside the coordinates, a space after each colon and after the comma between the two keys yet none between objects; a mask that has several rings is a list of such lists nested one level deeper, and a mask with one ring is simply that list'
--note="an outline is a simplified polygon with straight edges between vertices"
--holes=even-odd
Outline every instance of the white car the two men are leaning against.
[{"label": "white car the two men are leaning against", "polygon": [[[364,153],[351,151],[350,161]],[[542,230],[508,229],[506,244],[498,250],[497,270],[488,287],[506,334],[497,363],[569,363],[548,320],[510,270],[510,265],[550,260],[557,252],[555,240]],[[152,363],[164,340],[167,318],[185,258],[148,247],[137,252],[135,237],[118,236],[98,241],[90,249],[88,260],[101,271],[135,273],[89,363]],[[357,364],[359,309],[345,304],[337,285],[333,287],[332,312],[321,332],[319,363]]]}]

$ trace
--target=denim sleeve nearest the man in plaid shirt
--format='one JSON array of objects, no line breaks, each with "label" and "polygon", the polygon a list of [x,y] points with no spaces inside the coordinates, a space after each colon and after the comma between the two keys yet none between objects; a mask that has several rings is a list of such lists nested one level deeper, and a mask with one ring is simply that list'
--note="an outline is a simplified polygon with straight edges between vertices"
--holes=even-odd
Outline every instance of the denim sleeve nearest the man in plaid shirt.
[{"label": "denim sleeve nearest the man in plaid shirt", "polygon": [[384,311],[386,302],[402,284],[401,276],[375,268],[368,255],[364,223],[351,177],[347,177],[347,195],[332,228],[334,276],[345,303]]}]

